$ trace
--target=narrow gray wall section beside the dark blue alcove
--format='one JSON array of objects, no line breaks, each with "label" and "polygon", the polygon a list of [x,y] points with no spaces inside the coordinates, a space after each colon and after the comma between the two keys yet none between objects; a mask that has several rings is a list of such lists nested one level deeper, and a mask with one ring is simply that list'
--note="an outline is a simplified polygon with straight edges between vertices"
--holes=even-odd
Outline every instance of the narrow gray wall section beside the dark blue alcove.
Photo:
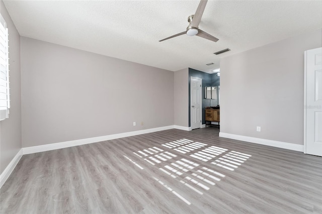
[{"label": "narrow gray wall section beside the dark blue alcove", "polygon": [[189,127],[189,69],[185,68],[175,75],[175,125]]}]

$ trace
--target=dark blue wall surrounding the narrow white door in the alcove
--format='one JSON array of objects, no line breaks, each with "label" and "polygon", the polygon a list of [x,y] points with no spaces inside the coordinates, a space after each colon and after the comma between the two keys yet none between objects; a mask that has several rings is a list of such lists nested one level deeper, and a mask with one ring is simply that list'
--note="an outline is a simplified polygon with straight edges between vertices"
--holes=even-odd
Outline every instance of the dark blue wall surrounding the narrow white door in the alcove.
[{"label": "dark blue wall surrounding the narrow white door in the alcove", "polygon": [[189,68],[189,127],[191,126],[191,113],[190,113],[190,77],[198,77],[201,78],[201,92],[202,92],[202,99],[201,99],[201,108],[202,108],[202,124],[205,124],[205,107],[210,106],[210,99],[205,99],[205,87],[207,86],[217,86],[220,85],[220,77],[216,74],[209,74],[202,71],[195,70],[193,68]]}]

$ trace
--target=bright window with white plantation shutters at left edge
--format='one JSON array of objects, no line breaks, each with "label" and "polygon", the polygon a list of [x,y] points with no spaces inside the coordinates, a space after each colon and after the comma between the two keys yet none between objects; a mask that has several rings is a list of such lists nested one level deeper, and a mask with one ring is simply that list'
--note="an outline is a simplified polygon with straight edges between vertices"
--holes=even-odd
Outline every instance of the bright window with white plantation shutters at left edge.
[{"label": "bright window with white plantation shutters at left edge", "polygon": [[0,15],[0,121],[9,117],[9,46],[6,21]]}]

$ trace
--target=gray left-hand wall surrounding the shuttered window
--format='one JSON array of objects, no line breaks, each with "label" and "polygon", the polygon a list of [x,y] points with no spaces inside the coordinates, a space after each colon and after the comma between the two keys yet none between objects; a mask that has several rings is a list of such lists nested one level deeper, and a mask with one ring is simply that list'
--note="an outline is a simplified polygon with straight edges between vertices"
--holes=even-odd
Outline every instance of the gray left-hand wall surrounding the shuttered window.
[{"label": "gray left-hand wall surrounding the shuttered window", "polygon": [[0,1],[0,12],[9,29],[10,99],[9,118],[0,122],[0,173],[21,149],[20,35],[6,7]]}]

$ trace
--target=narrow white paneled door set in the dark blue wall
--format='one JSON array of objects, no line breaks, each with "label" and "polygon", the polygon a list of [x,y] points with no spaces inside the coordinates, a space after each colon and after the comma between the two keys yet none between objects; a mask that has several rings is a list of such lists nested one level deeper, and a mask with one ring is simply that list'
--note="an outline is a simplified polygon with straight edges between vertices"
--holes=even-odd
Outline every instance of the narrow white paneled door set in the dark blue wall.
[{"label": "narrow white paneled door set in the dark blue wall", "polygon": [[201,79],[190,78],[191,129],[201,128]]}]

